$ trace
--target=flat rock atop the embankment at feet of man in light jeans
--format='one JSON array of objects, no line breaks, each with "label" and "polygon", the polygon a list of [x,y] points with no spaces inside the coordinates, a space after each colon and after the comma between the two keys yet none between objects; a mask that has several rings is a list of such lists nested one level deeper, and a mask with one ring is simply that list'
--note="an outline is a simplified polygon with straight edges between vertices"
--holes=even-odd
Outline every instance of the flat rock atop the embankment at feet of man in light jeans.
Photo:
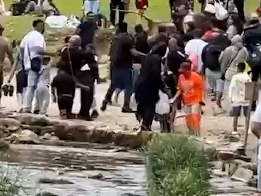
[{"label": "flat rock atop the embankment at feet of man in light jeans", "polygon": [[50,120],[44,115],[23,113],[14,116],[14,118],[18,120],[21,124],[38,126],[51,125]]}]

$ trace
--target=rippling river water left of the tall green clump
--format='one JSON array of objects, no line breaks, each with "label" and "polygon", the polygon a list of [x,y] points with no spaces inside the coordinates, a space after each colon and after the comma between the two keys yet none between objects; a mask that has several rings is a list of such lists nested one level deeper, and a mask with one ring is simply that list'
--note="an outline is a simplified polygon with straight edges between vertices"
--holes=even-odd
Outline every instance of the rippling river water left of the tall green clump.
[{"label": "rippling river water left of the tall green clump", "polygon": [[146,195],[144,160],[137,152],[101,144],[62,145],[13,145],[1,157],[1,169],[21,179],[23,195]]}]

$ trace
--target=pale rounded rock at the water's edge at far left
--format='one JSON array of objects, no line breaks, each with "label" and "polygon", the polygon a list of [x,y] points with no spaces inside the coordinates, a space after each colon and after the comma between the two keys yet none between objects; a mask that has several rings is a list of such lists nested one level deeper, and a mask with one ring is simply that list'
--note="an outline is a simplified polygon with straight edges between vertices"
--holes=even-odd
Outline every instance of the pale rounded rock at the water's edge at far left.
[{"label": "pale rounded rock at the water's edge at far left", "polygon": [[38,136],[31,130],[22,130],[5,138],[11,143],[38,144]]}]

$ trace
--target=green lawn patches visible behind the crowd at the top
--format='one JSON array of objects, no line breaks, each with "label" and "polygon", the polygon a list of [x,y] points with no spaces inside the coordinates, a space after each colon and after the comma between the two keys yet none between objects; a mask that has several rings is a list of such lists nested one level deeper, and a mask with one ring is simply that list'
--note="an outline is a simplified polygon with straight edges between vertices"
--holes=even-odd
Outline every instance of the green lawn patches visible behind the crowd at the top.
[{"label": "green lawn patches visible behind the crowd at the top", "polygon": [[[5,0],[6,8],[13,2],[13,0]],[[60,9],[62,14],[65,15],[82,15],[82,0],[54,0],[57,7]],[[134,2],[134,1],[131,1]],[[199,10],[199,5],[196,2],[196,9]],[[101,12],[106,16],[109,16],[109,0],[101,0]],[[253,12],[258,6],[259,0],[246,0],[245,1],[245,10],[247,13]],[[135,6],[132,5],[132,9]],[[169,7],[167,0],[149,0],[149,9],[146,12],[146,15],[154,20],[168,21],[169,20]],[[0,22],[6,27],[5,35],[10,39],[21,39],[24,34],[26,34],[31,29],[32,21],[35,17],[32,16],[10,16],[3,17],[0,16]],[[129,14],[127,16],[127,21],[135,23],[136,16]]]}]

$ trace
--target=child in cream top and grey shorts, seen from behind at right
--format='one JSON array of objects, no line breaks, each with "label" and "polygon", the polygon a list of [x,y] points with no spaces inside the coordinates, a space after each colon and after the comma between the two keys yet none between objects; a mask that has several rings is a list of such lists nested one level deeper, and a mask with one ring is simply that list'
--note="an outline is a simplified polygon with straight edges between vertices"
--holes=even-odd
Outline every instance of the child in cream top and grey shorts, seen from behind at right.
[{"label": "child in cream top and grey shorts, seen from behind at right", "polygon": [[[244,116],[247,117],[250,106],[249,100],[245,100],[245,84],[251,82],[251,78],[244,72],[245,68],[245,63],[238,64],[238,73],[232,77],[229,86],[229,99],[232,105],[230,115],[234,117],[233,131],[238,131],[238,118],[241,116],[241,109],[243,108]],[[245,120],[247,119],[245,118]]]}]

